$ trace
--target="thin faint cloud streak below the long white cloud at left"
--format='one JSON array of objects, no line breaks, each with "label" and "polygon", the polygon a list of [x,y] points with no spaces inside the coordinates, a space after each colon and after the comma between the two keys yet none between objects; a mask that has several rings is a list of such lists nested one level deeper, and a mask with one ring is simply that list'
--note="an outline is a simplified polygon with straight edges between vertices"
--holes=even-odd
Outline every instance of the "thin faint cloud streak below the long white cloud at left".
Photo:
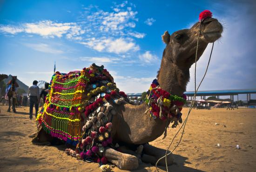
[{"label": "thin faint cloud streak below the long white cloud at left", "polygon": [[49,45],[47,44],[24,44],[25,46],[27,47],[30,47],[36,51],[39,51],[39,52],[43,52],[43,53],[53,53],[53,54],[61,54],[61,53],[64,53],[63,51],[61,50],[58,50],[58,49],[55,49],[53,47],[50,47]]}]

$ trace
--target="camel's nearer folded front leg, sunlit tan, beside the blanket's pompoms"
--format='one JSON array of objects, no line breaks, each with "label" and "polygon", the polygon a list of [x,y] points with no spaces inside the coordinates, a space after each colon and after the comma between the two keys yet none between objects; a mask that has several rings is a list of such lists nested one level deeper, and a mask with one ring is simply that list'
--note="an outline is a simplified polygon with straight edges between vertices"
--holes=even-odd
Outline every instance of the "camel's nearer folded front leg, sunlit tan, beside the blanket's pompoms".
[{"label": "camel's nearer folded front leg, sunlit tan, beside the blanket's pompoms", "polygon": [[139,166],[137,157],[118,152],[112,148],[107,148],[103,155],[108,159],[109,162],[115,164],[121,170],[135,170]]}]

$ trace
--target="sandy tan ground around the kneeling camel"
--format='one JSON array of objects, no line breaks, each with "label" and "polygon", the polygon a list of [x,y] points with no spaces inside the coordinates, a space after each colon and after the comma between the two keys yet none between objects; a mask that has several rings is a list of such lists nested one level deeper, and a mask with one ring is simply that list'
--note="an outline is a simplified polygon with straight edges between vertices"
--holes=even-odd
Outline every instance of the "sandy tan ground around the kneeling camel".
[{"label": "sandy tan ground around the kneeling camel", "polygon": [[[0,106],[0,171],[77,171],[99,172],[97,163],[86,163],[67,156],[65,146],[35,146],[28,136],[35,131],[28,107],[17,113]],[[188,108],[183,109],[185,119]],[[216,125],[218,123],[219,125]],[[178,129],[168,129],[168,137],[150,144],[166,149]],[[256,109],[193,110],[179,147],[174,152],[171,172],[253,172],[256,171]],[[178,139],[175,140],[175,144]],[[220,147],[217,144],[220,144]],[[241,149],[236,149],[239,145]],[[120,172],[117,167],[112,169]],[[142,163],[136,172],[152,171]],[[160,167],[160,171],[166,171]]]}]

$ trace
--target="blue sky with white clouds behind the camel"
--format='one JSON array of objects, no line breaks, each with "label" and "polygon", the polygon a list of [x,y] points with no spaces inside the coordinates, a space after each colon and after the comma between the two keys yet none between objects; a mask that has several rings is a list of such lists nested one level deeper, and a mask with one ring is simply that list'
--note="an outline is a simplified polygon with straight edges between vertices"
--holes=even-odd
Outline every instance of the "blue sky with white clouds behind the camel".
[{"label": "blue sky with white clouds behind the camel", "polygon": [[[5,0],[0,1],[0,73],[27,85],[60,72],[103,64],[126,93],[141,93],[156,77],[168,30],[189,28],[209,9],[224,25],[200,90],[256,87],[253,1]],[[209,58],[198,63],[198,80]],[[191,81],[194,68],[191,67]],[[193,90],[190,82],[187,90]]]}]

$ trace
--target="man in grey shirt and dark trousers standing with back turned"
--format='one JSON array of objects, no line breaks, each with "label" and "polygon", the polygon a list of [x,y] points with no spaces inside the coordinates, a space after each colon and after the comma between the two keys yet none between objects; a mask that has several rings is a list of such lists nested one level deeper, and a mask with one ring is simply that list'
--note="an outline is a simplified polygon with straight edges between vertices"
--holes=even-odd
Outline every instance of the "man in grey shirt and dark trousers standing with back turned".
[{"label": "man in grey shirt and dark trousers standing with back turned", "polygon": [[38,81],[33,81],[33,86],[28,88],[29,96],[29,119],[33,118],[33,106],[35,107],[35,118],[37,117],[38,104],[40,100],[39,87],[37,86]]}]

